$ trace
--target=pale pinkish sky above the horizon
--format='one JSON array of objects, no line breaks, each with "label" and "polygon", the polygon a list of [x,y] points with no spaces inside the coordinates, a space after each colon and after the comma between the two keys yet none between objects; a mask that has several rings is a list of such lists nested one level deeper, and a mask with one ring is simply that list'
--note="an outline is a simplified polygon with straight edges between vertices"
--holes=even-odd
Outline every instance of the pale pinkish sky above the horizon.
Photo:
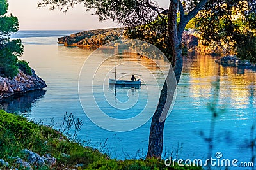
[{"label": "pale pinkish sky above the horizon", "polygon": [[[70,8],[68,13],[56,9],[38,8],[39,0],[8,0],[9,13],[19,19],[20,30],[88,30],[122,27],[122,25],[105,21],[99,22],[99,18],[86,12],[83,4]],[[157,0],[159,6],[167,8],[170,0]]]}]

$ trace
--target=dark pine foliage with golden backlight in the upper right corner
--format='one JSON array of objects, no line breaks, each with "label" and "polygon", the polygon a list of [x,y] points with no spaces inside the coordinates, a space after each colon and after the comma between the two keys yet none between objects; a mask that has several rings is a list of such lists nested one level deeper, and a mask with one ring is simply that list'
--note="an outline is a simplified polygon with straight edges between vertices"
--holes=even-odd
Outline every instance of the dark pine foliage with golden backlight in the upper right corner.
[{"label": "dark pine foliage with golden backlight in the upper right corner", "polygon": [[232,53],[255,62],[255,7],[253,1],[209,1],[196,18],[204,45],[228,45]]}]

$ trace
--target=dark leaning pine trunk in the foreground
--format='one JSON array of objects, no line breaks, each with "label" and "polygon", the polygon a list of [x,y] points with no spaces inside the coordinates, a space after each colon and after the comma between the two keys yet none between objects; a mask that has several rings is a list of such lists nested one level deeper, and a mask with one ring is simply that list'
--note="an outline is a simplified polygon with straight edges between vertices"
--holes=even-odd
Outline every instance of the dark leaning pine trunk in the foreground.
[{"label": "dark leaning pine trunk in the foreground", "polygon": [[[177,7],[179,0],[170,1],[169,14],[168,14],[168,34],[170,45],[172,47],[172,66],[174,66],[173,71],[175,73],[175,78],[177,83],[179,82],[180,75],[182,72],[183,60],[182,60],[182,45],[181,45],[181,36],[177,35]],[[163,131],[165,118],[162,121],[161,115],[164,110],[164,105],[166,104],[166,99],[168,98],[168,81],[165,81],[163,89],[161,90],[161,95],[159,98],[159,103],[157,109],[152,117],[151,127],[150,127],[150,136],[148,143],[148,153],[147,158],[156,157],[161,158],[163,152]],[[168,98],[173,99],[174,91],[171,91],[170,94],[172,97]],[[169,94],[168,94],[169,95]],[[170,101],[168,101],[170,102]],[[172,101],[170,102],[172,103]]]}]

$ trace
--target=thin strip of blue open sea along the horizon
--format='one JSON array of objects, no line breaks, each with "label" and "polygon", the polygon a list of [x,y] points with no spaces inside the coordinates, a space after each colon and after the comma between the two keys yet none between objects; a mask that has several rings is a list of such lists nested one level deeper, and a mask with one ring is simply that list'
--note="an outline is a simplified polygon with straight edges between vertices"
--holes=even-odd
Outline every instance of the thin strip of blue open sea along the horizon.
[{"label": "thin strip of blue open sea along the horizon", "polygon": [[81,32],[81,30],[19,30],[12,34],[11,38],[32,38],[32,37],[61,37]]}]

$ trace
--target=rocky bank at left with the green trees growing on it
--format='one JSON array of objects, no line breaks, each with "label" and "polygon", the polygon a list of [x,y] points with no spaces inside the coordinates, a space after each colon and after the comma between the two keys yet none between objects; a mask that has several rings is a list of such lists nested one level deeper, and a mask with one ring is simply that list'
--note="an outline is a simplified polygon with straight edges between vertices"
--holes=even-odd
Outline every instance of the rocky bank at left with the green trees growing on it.
[{"label": "rocky bank at left with the green trees growing on it", "polygon": [[19,30],[18,18],[8,14],[8,3],[0,0],[0,100],[13,94],[46,87],[25,60],[18,60],[24,52],[20,39],[10,39]]}]

